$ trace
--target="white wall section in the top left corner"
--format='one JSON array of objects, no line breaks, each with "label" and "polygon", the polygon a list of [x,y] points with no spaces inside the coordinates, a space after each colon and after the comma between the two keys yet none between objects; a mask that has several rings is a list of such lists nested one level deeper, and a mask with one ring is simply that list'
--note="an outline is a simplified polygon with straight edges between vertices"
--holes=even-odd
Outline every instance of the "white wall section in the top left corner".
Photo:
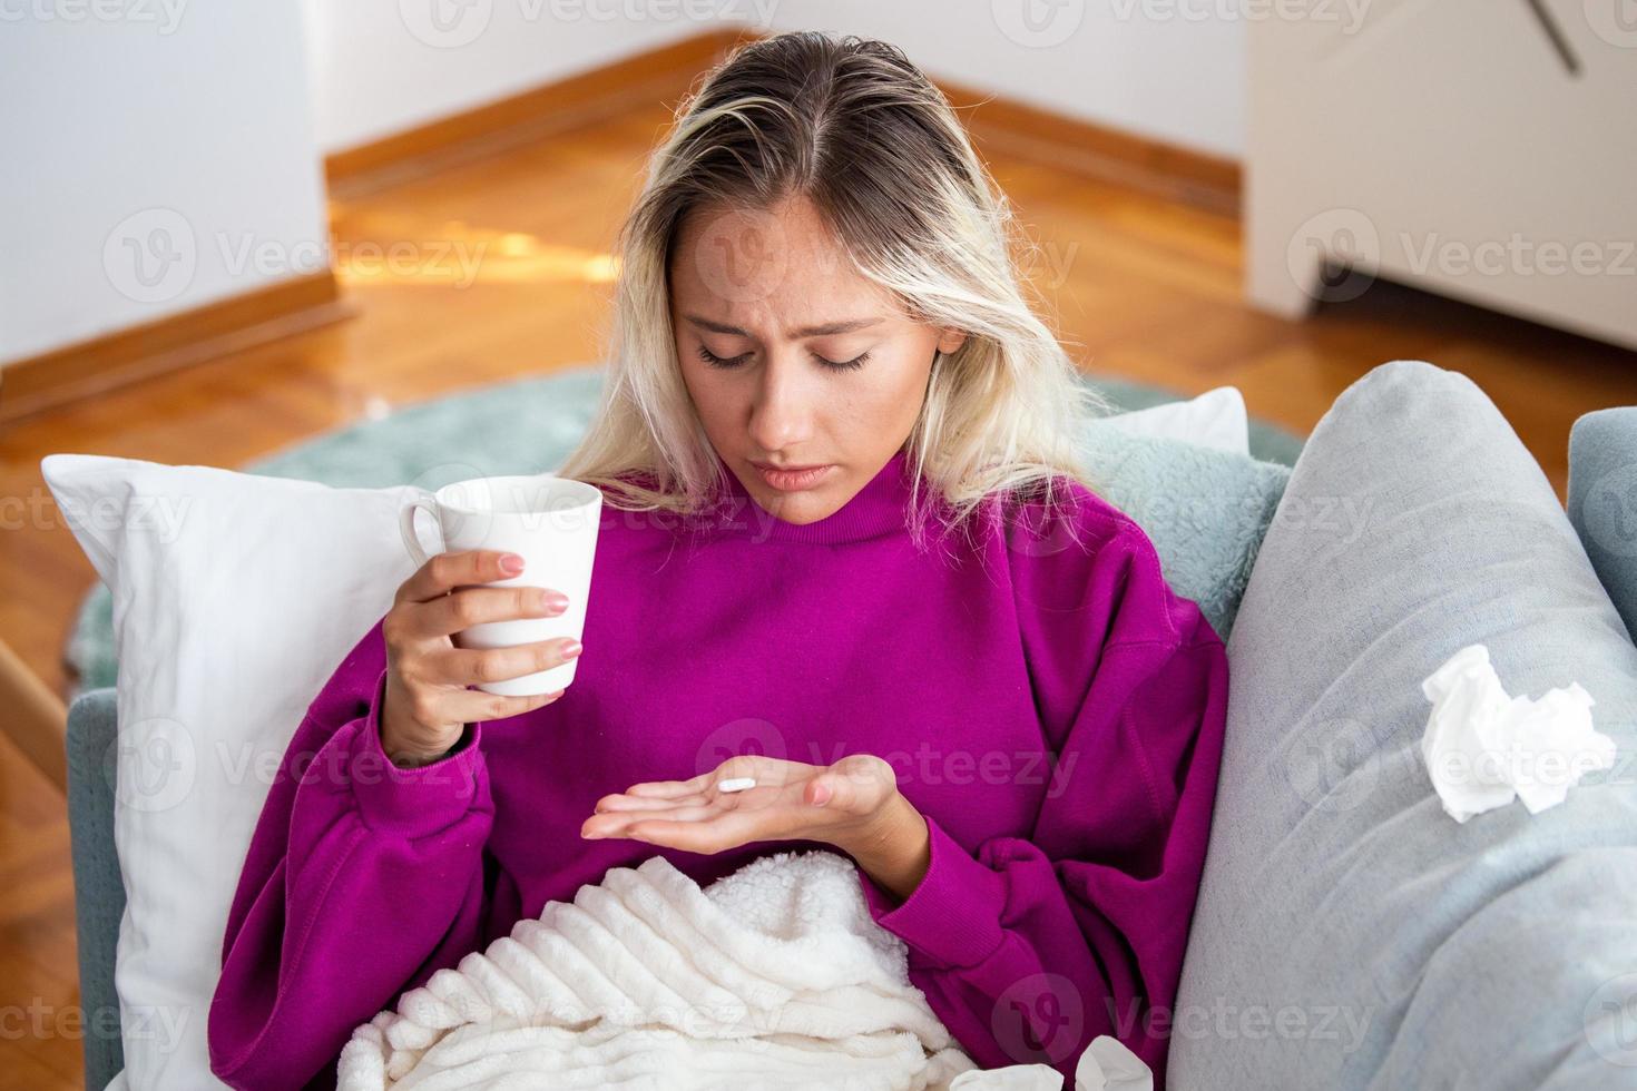
[{"label": "white wall section in the top left corner", "polygon": [[0,3],[0,361],[327,265],[300,8]]}]

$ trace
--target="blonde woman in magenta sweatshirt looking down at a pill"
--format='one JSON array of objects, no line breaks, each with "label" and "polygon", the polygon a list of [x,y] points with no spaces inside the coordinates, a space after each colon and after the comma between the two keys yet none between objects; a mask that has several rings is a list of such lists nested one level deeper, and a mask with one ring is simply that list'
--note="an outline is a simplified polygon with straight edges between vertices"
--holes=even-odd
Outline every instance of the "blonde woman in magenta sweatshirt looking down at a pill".
[{"label": "blonde woman in magenta sweatshirt looking down at a pill", "polygon": [[326,1086],[357,1024],[611,867],[822,847],[979,1065],[1067,1075],[1113,1034],[1162,1078],[1228,664],[1077,466],[1105,406],[1008,224],[895,49],[781,34],[710,74],[622,231],[561,468],[606,496],[576,680],[468,689],[578,654],[453,646],[561,608],[483,587],[506,556],[403,584],[267,800],[218,1075]]}]

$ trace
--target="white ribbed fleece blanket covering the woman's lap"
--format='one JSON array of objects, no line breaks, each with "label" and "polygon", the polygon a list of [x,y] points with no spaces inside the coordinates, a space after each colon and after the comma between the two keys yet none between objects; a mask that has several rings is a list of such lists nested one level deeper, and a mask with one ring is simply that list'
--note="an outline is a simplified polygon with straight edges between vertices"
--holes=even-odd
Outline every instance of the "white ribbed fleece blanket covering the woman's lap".
[{"label": "white ribbed fleece blanket covering the woman's lap", "polygon": [[[760,857],[707,890],[655,855],[404,993],[354,1030],[337,1089],[1062,1086],[1048,1065],[977,1070],[905,954],[833,852]],[[1100,1037],[1076,1088],[1146,1073]]]}]

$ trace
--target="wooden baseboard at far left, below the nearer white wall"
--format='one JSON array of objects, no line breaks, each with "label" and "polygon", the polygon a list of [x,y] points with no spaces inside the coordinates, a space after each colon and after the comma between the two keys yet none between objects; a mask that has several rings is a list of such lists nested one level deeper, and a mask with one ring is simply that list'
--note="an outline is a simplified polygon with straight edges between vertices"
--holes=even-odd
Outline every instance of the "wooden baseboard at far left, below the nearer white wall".
[{"label": "wooden baseboard at far left, below the nearer white wall", "polygon": [[0,368],[0,424],[352,314],[331,270]]}]

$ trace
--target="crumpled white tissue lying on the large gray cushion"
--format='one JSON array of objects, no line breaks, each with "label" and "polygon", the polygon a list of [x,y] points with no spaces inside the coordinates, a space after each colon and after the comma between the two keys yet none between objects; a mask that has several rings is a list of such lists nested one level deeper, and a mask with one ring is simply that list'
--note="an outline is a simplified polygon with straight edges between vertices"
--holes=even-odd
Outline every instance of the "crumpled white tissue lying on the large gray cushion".
[{"label": "crumpled white tissue lying on the large gray cushion", "polygon": [[1421,757],[1457,823],[1514,798],[1539,815],[1583,775],[1614,764],[1614,739],[1591,726],[1596,702],[1580,682],[1537,700],[1508,697],[1483,644],[1450,656],[1421,692],[1432,702]]}]

